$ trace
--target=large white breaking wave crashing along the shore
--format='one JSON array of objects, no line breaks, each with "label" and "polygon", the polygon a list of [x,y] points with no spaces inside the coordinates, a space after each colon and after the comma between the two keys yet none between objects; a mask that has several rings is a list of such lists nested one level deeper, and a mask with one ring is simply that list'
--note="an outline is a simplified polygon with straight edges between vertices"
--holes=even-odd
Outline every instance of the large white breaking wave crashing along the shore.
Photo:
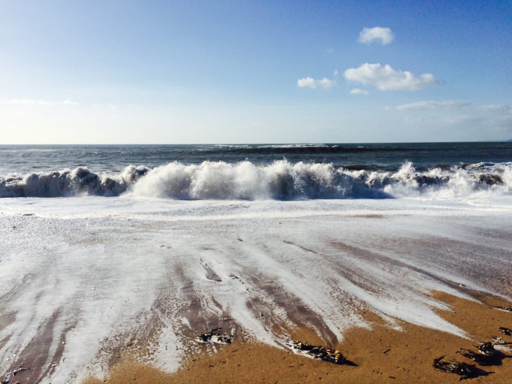
[{"label": "large white breaking wave crashing along the shore", "polygon": [[182,200],[295,200],[468,197],[512,194],[512,163],[478,163],[419,172],[411,162],[397,172],[335,167],[326,163],[269,165],[172,162],[149,169],[128,166],[116,175],[87,167],[0,179],[0,197],[135,196]]}]

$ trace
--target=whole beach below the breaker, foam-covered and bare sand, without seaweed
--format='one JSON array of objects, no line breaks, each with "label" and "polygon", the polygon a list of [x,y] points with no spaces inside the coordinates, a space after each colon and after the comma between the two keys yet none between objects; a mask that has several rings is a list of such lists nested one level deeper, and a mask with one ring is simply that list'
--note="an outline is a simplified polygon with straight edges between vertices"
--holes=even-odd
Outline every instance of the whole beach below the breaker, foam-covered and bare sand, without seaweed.
[{"label": "whole beach below the breaker, foam-covered and bare sand, without seaweed", "polygon": [[[470,362],[459,348],[512,328],[512,314],[493,308],[506,302],[482,296],[512,292],[510,216],[501,208],[398,199],[8,202],[0,218],[10,292],[0,317],[4,380],[457,381],[433,360]],[[232,344],[198,343],[216,328]],[[339,350],[353,364],[295,354],[292,340]],[[475,380],[503,382],[509,362]]]}]

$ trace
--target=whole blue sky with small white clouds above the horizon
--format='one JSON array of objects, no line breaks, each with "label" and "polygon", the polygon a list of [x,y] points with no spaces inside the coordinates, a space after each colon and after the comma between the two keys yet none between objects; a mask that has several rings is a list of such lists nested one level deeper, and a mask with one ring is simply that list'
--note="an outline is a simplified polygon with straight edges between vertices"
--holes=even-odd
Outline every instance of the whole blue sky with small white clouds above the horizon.
[{"label": "whole blue sky with small white clouds above the horizon", "polygon": [[512,2],[0,2],[0,144],[512,139]]}]

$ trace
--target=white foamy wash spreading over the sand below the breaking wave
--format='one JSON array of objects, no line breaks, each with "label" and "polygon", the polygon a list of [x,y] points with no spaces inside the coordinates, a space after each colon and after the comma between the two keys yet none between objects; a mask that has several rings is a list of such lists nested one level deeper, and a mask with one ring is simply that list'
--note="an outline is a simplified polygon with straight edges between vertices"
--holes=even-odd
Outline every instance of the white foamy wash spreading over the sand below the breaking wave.
[{"label": "white foamy wash spreading over the sand below the breaking wave", "polygon": [[3,199],[0,367],[76,382],[129,348],[172,371],[208,329],[334,344],[361,309],[465,336],[432,290],[512,295],[510,204],[474,203]]}]

